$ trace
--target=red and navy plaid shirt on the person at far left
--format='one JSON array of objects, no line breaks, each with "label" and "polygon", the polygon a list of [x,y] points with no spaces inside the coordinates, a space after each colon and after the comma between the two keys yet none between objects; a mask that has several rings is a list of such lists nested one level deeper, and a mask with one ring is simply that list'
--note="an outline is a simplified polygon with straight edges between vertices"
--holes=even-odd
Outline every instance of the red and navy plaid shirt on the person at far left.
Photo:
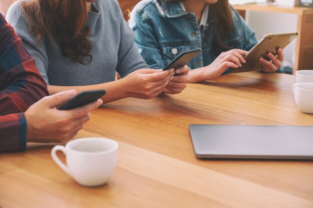
[{"label": "red and navy plaid shirt on the person at far left", "polygon": [[33,58],[0,14],[0,152],[26,149],[23,112],[46,95]]}]

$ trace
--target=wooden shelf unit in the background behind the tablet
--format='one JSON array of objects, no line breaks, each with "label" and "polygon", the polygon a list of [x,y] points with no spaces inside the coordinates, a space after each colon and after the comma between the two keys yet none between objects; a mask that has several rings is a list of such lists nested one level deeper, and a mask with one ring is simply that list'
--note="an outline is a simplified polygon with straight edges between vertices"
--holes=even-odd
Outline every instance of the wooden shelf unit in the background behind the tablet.
[{"label": "wooden shelf unit in the background behind the tablet", "polygon": [[[311,58],[313,56],[313,8],[266,4],[244,4],[234,5],[234,7],[241,15],[246,10],[297,14],[297,32],[299,35],[296,38],[293,74],[296,70],[313,69],[313,59]],[[281,23],[288,24],[288,22]]]}]

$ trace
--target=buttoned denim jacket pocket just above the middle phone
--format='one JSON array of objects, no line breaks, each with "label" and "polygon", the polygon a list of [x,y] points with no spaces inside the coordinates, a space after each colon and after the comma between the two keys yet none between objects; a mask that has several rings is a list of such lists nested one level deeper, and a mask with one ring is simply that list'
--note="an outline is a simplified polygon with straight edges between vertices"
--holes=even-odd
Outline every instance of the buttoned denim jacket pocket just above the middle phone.
[{"label": "buttoned denim jacket pocket just above the middle phone", "polygon": [[190,50],[189,45],[169,45],[169,46],[161,46],[162,50],[162,56],[163,56],[163,61],[164,65],[166,66],[169,64],[176,56],[179,55],[179,53]]}]

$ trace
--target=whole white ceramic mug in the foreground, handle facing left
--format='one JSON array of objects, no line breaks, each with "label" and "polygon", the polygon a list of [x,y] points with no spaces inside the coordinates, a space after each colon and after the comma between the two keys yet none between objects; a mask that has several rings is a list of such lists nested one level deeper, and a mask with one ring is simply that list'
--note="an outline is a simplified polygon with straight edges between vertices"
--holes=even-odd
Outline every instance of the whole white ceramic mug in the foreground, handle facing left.
[{"label": "whole white ceramic mug in the foreground, handle facing left", "polygon": [[[117,163],[118,143],[105,138],[81,138],[56,145],[51,150],[54,162],[82,186],[103,185],[110,178]],[[65,166],[56,156],[61,151],[66,155]]]}]

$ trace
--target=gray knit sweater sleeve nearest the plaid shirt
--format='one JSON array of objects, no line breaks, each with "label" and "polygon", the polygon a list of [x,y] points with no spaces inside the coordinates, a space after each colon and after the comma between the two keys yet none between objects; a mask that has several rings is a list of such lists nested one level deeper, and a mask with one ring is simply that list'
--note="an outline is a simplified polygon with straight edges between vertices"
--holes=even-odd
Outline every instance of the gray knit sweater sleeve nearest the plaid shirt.
[{"label": "gray knit sweater sleeve nearest the plaid shirt", "polygon": [[30,32],[19,1],[14,2],[9,7],[6,14],[6,20],[13,26],[16,34],[22,39],[24,48],[32,57],[34,57],[38,71],[48,85],[48,56],[44,40],[37,41],[36,36]]}]

